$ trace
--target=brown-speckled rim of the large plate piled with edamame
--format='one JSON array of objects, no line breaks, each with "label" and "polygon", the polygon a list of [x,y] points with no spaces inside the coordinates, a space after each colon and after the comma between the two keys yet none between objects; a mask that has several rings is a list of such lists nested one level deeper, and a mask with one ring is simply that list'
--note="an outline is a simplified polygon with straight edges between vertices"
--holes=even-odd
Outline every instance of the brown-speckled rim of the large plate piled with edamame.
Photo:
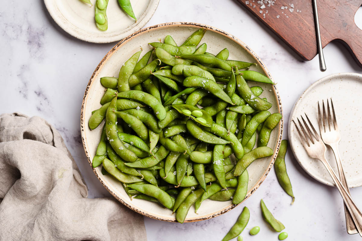
[{"label": "brown-speckled rim of the large plate piled with edamame", "polygon": [[[81,127],[81,137],[82,137],[82,143],[83,143],[83,147],[84,147],[84,151],[85,154],[87,155],[87,159],[88,162],[90,164],[90,166],[92,167],[92,160],[90,159],[90,155],[89,155],[89,150],[88,150],[88,146],[86,144],[86,137],[85,137],[85,128],[89,128],[88,124],[85,122],[85,105],[87,104],[87,99],[88,99],[88,91],[90,89],[90,86],[93,82],[93,78],[94,76],[96,76],[96,73],[101,69],[102,65],[106,64],[107,59],[113,54],[113,52],[117,49],[122,47],[124,44],[126,44],[128,41],[131,41],[136,35],[138,34],[144,34],[150,31],[154,31],[157,29],[161,29],[161,28],[166,28],[166,27],[204,27],[207,28],[208,31],[212,31],[212,32],[216,32],[218,34],[221,34],[223,36],[225,36],[226,38],[231,39],[232,41],[234,41],[237,45],[239,45],[240,47],[242,47],[243,49],[245,49],[249,54],[251,54],[256,60],[257,60],[257,64],[260,65],[262,67],[262,69],[264,70],[264,73],[271,79],[273,80],[273,78],[271,77],[268,69],[266,69],[266,67],[264,66],[264,63],[261,62],[260,58],[246,45],[244,44],[242,41],[240,41],[239,39],[237,39],[235,36],[228,34],[227,32],[224,32],[222,30],[216,29],[215,27],[211,27],[208,25],[204,25],[204,24],[200,24],[200,23],[190,23],[190,22],[172,22],[172,23],[162,23],[162,24],[158,24],[158,25],[154,25],[151,27],[147,27],[145,29],[139,30],[137,32],[135,32],[134,34],[131,34],[130,36],[128,36],[125,39],[122,39],[119,43],[117,43],[102,59],[102,61],[98,64],[97,68],[94,70],[92,76],[90,77],[90,80],[88,82],[87,88],[85,89],[85,94],[83,97],[83,102],[82,102],[82,106],[81,106],[81,114],[80,114],[80,127]],[[274,82],[274,81],[273,81]],[[281,104],[281,98],[279,96],[279,92],[278,89],[275,85],[273,85],[273,93],[274,93],[274,97],[275,100],[277,101],[277,105],[278,105],[278,111],[280,114],[283,115],[283,110],[282,110],[282,104]],[[277,141],[277,145],[274,149],[274,154],[270,159],[270,163],[269,163],[269,167],[266,168],[264,174],[261,176],[261,178],[257,181],[257,183],[254,185],[254,187],[247,193],[247,196],[245,197],[244,201],[249,198],[251,196],[251,194],[253,194],[256,189],[258,189],[258,187],[260,187],[261,183],[264,181],[264,179],[266,178],[266,176],[268,175],[271,167],[273,167],[273,164],[275,162],[275,158],[277,158],[278,152],[279,152],[279,147],[282,141],[282,134],[283,134],[283,118],[281,119],[281,121],[278,124],[278,141]],[[113,192],[113,190],[111,190],[110,187],[107,186],[107,184],[103,181],[102,177],[99,176],[95,170],[95,168],[93,168],[93,172],[94,174],[96,174],[97,178],[100,180],[100,182],[102,183],[102,185],[108,190],[108,192],[110,194],[112,194],[118,201],[120,201],[121,203],[123,203],[124,205],[126,205],[127,207],[129,207],[130,209],[138,212],[139,214],[142,214],[144,216],[147,216],[149,218],[153,218],[156,220],[162,220],[162,221],[167,221],[167,222],[177,222],[176,218],[174,219],[169,219],[168,217],[164,217],[164,216],[154,216],[150,213],[147,212],[147,210],[140,210],[139,207],[136,207],[132,204],[129,204],[127,202],[125,202],[121,197],[117,196],[117,194],[115,194]],[[239,203],[240,204],[240,203]],[[238,205],[239,205],[238,204]],[[218,210],[215,211],[211,214],[205,215],[205,216],[201,216],[198,218],[187,218],[185,219],[185,222],[197,222],[197,221],[201,221],[201,220],[206,220],[206,219],[210,219],[210,218],[214,218],[216,216],[219,216],[225,212],[230,211],[231,209],[233,209],[234,207],[236,207],[237,205],[229,205],[227,206],[225,209],[222,210]]]}]

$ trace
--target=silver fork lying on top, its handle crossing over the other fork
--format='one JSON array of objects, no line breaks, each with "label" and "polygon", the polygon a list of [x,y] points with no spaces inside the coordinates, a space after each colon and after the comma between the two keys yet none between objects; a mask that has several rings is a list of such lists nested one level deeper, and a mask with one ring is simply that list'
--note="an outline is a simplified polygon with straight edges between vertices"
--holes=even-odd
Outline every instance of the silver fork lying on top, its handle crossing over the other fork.
[{"label": "silver fork lying on top, its handle crossing over the other fork", "polygon": [[306,117],[307,117],[308,123],[310,124],[310,126],[311,126],[314,133],[312,133],[312,131],[308,127],[308,124],[306,123],[306,121],[304,121],[303,117],[302,117],[302,121],[303,121],[304,126],[307,129],[308,133],[304,129],[302,123],[300,123],[299,119],[297,118],[300,129],[302,130],[304,136],[299,131],[299,128],[296,125],[296,123],[294,122],[294,120],[292,120],[292,122],[295,125],[296,130],[298,131],[300,141],[303,144],[304,149],[306,149],[307,154],[312,158],[319,159],[319,161],[321,161],[323,163],[325,168],[327,168],[327,171],[329,172],[329,175],[331,175],[334,183],[336,184],[336,187],[340,191],[341,196],[342,196],[342,198],[343,198],[343,200],[345,202],[345,205],[346,205],[348,211],[350,212],[350,214],[352,216],[352,220],[353,220],[354,224],[356,225],[356,228],[357,228],[357,231],[358,231],[359,235],[361,235],[361,237],[362,237],[362,230],[361,230],[361,227],[362,227],[362,212],[358,209],[357,205],[352,200],[352,197],[350,196],[348,191],[343,187],[341,181],[337,178],[337,176],[334,173],[331,165],[329,165],[327,159],[325,158],[325,152],[327,151],[327,148],[326,148],[325,144],[323,143],[322,139],[320,138],[320,136],[318,135],[317,131],[313,127],[313,125],[310,122],[307,115],[306,115]]}]

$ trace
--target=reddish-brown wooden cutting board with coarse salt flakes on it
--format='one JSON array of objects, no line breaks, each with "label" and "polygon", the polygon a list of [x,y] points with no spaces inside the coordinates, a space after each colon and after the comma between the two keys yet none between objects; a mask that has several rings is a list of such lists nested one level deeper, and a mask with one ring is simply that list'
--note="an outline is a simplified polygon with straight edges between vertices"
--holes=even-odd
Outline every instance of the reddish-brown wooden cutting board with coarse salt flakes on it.
[{"label": "reddish-brown wooden cutting board with coarse salt flakes on it", "polygon": [[[304,60],[316,56],[312,0],[238,1]],[[323,47],[332,40],[341,41],[362,67],[362,30],[354,23],[362,0],[317,0],[317,5]]]}]

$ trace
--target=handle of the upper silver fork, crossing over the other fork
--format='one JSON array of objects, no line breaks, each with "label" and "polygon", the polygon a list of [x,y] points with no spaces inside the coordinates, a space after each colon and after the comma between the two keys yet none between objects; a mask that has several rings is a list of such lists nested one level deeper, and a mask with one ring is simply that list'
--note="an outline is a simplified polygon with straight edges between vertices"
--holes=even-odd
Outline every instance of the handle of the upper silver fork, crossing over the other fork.
[{"label": "handle of the upper silver fork, crossing over the other fork", "polygon": [[352,220],[357,228],[357,231],[359,233],[359,235],[361,235],[362,237],[362,212],[358,209],[357,205],[355,204],[355,202],[353,201],[352,197],[350,196],[350,194],[348,193],[348,191],[343,187],[341,181],[337,178],[336,174],[334,173],[331,165],[329,165],[327,159],[324,158],[320,160],[324,166],[327,168],[327,171],[329,172],[329,174],[331,175],[334,183],[336,184],[336,187],[338,188],[338,190],[341,193],[341,196],[343,198],[343,201],[348,209],[348,211],[350,212],[351,216],[352,216]]}]

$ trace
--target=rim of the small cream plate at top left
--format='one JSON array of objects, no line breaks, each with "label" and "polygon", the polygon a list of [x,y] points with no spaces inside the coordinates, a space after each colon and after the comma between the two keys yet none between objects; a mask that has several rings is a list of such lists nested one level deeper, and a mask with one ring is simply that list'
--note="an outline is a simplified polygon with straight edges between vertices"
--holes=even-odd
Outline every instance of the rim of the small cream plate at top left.
[{"label": "rim of the small cream plate at top left", "polygon": [[[146,25],[146,23],[148,21],[150,21],[153,14],[156,12],[157,6],[160,2],[160,0],[151,0],[150,3],[148,4],[148,6],[150,6],[149,9],[148,8],[145,9],[145,11],[148,10],[148,12],[145,14],[145,16],[143,18],[137,19],[137,23],[134,27],[130,28],[129,30],[127,30],[125,32],[121,32],[119,34],[114,34],[114,35],[104,37],[104,36],[102,36],[102,31],[100,31],[100,34],[94,34],[94,33],[88,32],[89,35],[86,35],[83,32],[77,31],[77,29],[74,29],[72,27],[72,26],[74,26],[72,23],[68,22],[67,19],[63,18],[63,16],[59,16],[56,9],[51,6],[50,1],[54,1],[54,0],[43,0],[43,1],[44,1],[45,7],[48,10],[50,16],[52,17],[54,22],[59,25],[59,27],[61,27],[64,31],[66,31],[68,34],[70,34],[71,36],[73,36],[77,39],[80,39],[80,40],[83,40],[83,41],[86,41],[89,43],[96,43],[96,44],[112,43],[115,41],[119,41],[122,38],[125,38],[131,32],[142,29],[143,26]],[[142,14],[141,14],[141,16],[142,16]],[[129,38],[129,37],[127,37],[127,38]]]}]

